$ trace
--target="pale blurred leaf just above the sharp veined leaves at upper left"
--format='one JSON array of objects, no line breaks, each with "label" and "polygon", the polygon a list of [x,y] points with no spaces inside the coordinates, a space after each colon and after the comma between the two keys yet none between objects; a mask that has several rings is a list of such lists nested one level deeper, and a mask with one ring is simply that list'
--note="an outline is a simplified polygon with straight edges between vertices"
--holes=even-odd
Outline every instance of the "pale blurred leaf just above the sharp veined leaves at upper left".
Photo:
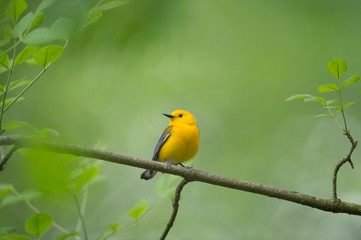
[{"label": "pale blurred leaf just above the sharp veined leaves at upper left", "polygon": [[63,37],[50,28],[36,28],[24,37],[23,42],[27,45],[43,45],[62,40]]}]

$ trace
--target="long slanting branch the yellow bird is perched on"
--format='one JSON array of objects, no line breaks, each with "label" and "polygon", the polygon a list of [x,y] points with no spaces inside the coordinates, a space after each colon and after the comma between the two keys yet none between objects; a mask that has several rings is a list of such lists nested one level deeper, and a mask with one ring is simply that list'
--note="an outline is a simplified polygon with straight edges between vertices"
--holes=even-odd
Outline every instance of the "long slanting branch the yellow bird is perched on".
[{"label": "long slanting branch the yellow bird is perched on", "polygon": [[244,180],[227,178],[195,169],[188,169],[173,165],[170,168],[167,168],[167,165],[161,162],[140,159],[132,156],[126,156],[115,152],[104,151],[85,146],[55,143],[17,135],[0,136],[0,145],[15,145],[18,149],[34,148],[49,152],[96,158],[108,162],[124,164],[144,169],[151,169],[163,173],[169,173],[181,176],[188,181],[204,182],[212,185],[261,194],[272,198],[283,199],[286,201],[298,203],[312,208],[317,208],[327,212],[347,213],[350,215],[361,216],[361,205],[359,204],[334,201],[333,199],[317,198],[295,191],[289,191],[273,186],[248,182]]}]

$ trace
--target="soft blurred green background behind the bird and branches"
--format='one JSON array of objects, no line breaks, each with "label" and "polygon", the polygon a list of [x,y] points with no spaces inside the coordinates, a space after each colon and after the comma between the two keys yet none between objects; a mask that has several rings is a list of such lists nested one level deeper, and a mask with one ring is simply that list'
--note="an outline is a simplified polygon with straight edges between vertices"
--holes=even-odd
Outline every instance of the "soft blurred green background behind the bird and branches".
[{"label": "soft blurred green background behind the bird and branches", "polygon": [[[31,1],[37,6],[40,1]],[[59,1],[58,16],[81,18],[96,1]],[[6,4],[6,1],[2,1]],[[134,0],[105,11],[76,34],[61,58],[16,104],[5,121],[19,120],[60,132],[59,142],[105,147],[150,159],[168,120],[162,113],[186,109],[197,118],[200,150],[194,168],[330,198],[336,162],[349,142],[317,103],[285,102],[296,93],[317,95],[335,81],[326,65],[348,64],[343,79],[361,75],[359,1]],[[39,69],[40,71],[40,69]],[[23,66],[18,76],[35,76]],[[5,81],[6,75],[0,75]],[[345,88],[348,125],[361,139],[358,84]],[[320,95],[320,94],[318,94]],[[332,98],[331,94],[324,94]],[[18,190],[55,181],[51,162],[16,154],[1,183]],[[45,161],[44,160],[44,161]],[[355,169],[339,174],[339,196],[360,203],[360,149]],[[50,172],[47,178],[41,172]],[[60,171],[60,170],[59,170]],[[104,181],[89,187],[86,223],[95,239],[106,226],[127,224],[138,199],[151,204],[157,179],[142,169],[103,163]],[[44,190],[44,189],[43,189]],[[44,190],[33,204],[74,228],[76,208],[66,194]],[[158,239],[172,211],[164,200],[118,239]],[[23,230],[33,212],[24,204],[0,208],[0,226]],[[55,229],[48,239],[59,235]],[[360,239],[359,217],[326,213],[293,203],[203,183],[188,184],[168,239]]]}]

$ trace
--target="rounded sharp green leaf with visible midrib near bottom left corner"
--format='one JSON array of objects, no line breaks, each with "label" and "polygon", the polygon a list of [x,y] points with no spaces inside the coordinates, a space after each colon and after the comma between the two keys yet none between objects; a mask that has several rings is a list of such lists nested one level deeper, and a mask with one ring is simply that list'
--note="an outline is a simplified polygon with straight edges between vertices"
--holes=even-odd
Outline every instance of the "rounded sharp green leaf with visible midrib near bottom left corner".
[{"label": "rounded sharp green leaf with visible midrib near bottom left corner", "polygon": [[52,216],[46,213],[37,213],[26,220],[25,229],[31,235],[40,237],[50,228],[52,223]]}]

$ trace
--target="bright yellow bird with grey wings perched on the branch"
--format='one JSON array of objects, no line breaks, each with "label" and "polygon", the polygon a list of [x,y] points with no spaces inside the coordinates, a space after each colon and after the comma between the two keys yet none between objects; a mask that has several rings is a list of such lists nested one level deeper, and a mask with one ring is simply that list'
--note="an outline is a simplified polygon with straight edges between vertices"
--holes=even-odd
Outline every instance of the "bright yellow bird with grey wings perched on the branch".
[{"label": "bright yellow bird with grey wings perched on the branch", "polygon": [[[169,118],[170,123],[155,146],[152,160],[182,165],[194,158],[198,152],[199,130],[196,119],[185,110],[176,110],[163,115]],[[140,178],[149,180],[156,173],[153,170],[146,170]]]}]

